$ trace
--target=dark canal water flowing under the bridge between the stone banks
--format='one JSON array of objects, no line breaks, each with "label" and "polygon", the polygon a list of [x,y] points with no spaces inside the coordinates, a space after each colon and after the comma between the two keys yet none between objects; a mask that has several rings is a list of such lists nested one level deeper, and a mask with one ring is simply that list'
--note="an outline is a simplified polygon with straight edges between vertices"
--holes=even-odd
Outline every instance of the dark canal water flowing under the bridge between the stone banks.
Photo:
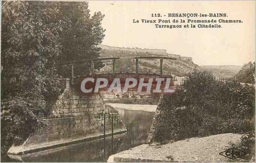
[{"label": "dark canal water flowing under the bridge between the stone banks", "polygon": [[145,144],[154,112],[124,110],[126,134],[83,141],[22,156],[24,162],[107,162],[112,154]]}]

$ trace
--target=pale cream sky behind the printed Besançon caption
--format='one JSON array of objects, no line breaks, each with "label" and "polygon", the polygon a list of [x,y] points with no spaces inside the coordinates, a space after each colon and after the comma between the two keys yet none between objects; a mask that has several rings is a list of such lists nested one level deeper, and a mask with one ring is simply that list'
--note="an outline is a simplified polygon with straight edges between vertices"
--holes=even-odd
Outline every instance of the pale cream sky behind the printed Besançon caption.
[{"label": "pale cream sky behind the printed Besan\u00e7on caption", "polygon": [[[199,66],[255,61],[255,1],[89,1],[89,8],[91,14],[105,14],[105,45],[166,49],[167,53],[192,57]],[[158,19],[152,18],[152,13],[227,13],[223,19],[241,19],[243,23],[217,23],[223,27],[215,29],[161,29],[155,28],[155,23],[132,23],[133,19]]]}]

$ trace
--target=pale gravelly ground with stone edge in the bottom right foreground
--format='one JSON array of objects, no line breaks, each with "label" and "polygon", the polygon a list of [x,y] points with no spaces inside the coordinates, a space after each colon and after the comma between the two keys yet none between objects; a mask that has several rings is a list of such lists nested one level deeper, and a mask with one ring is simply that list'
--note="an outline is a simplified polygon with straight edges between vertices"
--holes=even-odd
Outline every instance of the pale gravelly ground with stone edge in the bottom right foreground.
[{"label": "pale gravelly ground with stone edge in the bottom right foreground", "polygon": [[190,138],[165,145],[142,144],[109,157],[108,162],[232,162],[219,153],[241,135],[219,134]]}]

